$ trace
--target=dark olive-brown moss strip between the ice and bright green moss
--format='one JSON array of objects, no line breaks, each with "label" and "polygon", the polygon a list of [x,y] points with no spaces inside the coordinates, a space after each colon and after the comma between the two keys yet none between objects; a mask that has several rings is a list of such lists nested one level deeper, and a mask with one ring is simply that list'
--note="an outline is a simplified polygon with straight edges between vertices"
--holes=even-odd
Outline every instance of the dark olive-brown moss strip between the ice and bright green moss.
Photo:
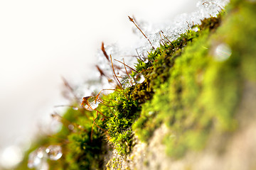
[{"label": "dark olive-brown moss strip between the ice and bright green moss", "polygon": [[142,72],[146,80],[135,86],[132,98],[139,101],[139,103],[149,101],[160,84],[163,84],[169,78],[169,69],[173,67],[176,57],[182,54],[183,47],[192,42],[193,38],[197,38],[198,35],[195,31],[188,30],[181,34],[177,40],[171,43],[166,41],[156,50],[150,52],[148,55],[149,62],[145,63],[138,60],[137,72]]}]

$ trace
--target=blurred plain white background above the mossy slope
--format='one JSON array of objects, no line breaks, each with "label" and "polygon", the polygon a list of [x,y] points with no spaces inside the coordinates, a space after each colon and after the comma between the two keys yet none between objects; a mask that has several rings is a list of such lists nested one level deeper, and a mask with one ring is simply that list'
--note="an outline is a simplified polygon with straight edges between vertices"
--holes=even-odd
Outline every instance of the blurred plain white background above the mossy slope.
[{"label": "blurred plain white background above the mossy slope", "polygon": [[127,16],[161,23],[195,11],[197,1],[0,1],[0,159],[66,103],[61,76],[75,84],[94,74],[102,41],[134,45]]}]

